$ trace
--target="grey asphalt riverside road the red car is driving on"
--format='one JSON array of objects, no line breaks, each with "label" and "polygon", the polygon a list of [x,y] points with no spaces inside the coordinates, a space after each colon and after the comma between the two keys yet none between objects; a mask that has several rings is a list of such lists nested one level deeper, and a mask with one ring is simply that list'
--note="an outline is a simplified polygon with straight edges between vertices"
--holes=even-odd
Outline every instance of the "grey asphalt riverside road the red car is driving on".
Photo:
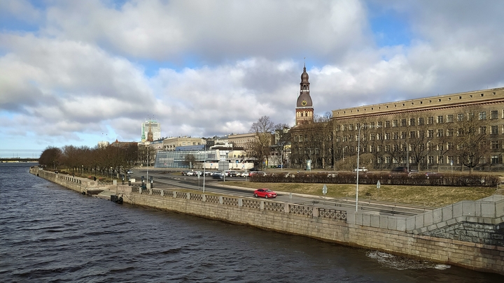
[{"label": "grey asphalt riverside road the red car is driving on", "polygon": [[[254,189],[245,187],[235,187],[226,185],[225,181],[248,182],[246,177],[225,177],[225,180],[216,180],[212,177],[182,176],[180,173],[169,170],[134,170],[132,177],[140,179],[144,176],[147,180],[153,177],[154,188],[165,189],[167,187],[180,187],[184,189],[194,189],[195,191],[212,192],[216,194],[228,194],[242,198],[253,197]],[[332,210],[354,211],[356,210],[355,198],[324,198],[322,196],[309,196],[303,194],[290,194],[288,192],[276,191],[278,195],[276,201],[294,203],[297,205],[316,206]],[[396,217],[410,217],[428,211],[432,208],[419,205],[407,205],[402,203],[391,203],[385,201],[359,199],[358,210],[367,213],[379,213],[379,215],[393,215]]]}]

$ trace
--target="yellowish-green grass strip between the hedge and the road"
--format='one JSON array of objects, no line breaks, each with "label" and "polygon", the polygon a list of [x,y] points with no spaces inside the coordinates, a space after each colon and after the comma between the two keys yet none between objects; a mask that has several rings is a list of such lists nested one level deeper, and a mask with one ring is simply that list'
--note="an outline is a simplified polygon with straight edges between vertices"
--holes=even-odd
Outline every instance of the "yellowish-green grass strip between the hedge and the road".
[{"label": "yellowish-green grass strip between the hedge and the road", "polygon": [[[294,194],[309,194],[323,196],[323,184],[304,183],[260,183],[260,182],[228,182],[225,184],[253,189],[268,188],[273,191],[283,191]],[[356,196],[356,184],[327,184],[327,197],[344,198]],[[379,201],[394,201],[428,205],[436,208],[456,203],[458,201],[477,201],[495,193],[496,188],[488,187],[423,187],[423,186],[393,186],[375,184],[359,184],[359,199]]]}]

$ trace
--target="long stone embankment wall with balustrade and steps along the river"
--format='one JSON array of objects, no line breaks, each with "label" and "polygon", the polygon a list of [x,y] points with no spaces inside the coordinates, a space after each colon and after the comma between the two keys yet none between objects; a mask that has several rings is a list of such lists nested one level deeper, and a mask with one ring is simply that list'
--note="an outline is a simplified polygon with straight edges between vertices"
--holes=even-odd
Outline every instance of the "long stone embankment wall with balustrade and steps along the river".
[{"label": "long stone embankment wall with balustrade and steps along the river", "polygon": [[[87,184],[95,185],[87,180],[77,184],[78,182],[55,177],[50,172],[39,175],[76,191],[85,191]],[[134,205],[504,275],[504,247],[489,245],[492,241],[495,244],[502,243],[499,237],[503,235],[504,200],[499,196],[476,202],[456,203],[448,208],[405,219],[353,211],[323,210],[255,198],[193,194],[176,189],[142,190],[120,184],[110,189],[123,196],[125,203]],[[486,226],[487,231],[478,232],[480,226]],[[469,238],[461,237],[464,233]],[[440,237],[442,234],[444,237]]]}]

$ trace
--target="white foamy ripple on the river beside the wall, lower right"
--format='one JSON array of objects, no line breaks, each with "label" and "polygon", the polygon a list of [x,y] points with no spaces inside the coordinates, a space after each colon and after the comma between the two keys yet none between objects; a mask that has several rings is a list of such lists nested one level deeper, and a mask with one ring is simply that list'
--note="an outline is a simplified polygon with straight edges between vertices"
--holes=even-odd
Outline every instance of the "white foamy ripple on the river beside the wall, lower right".
[{"label": "white foamy ripple on the river beside the wall, lower right", "polygon": [[394,256],[393,254],[387,254],[386,252],[369,251],[366,252],[366,256],[370,259],[374,259],[388,268],[394,268],[397,270],[406,269],[426,269],[435,268],[437,270],[445,270],[450,268],[446,264],[433,263],[431,261],[419,261],[416,259],[408,259],[404,256]]}]

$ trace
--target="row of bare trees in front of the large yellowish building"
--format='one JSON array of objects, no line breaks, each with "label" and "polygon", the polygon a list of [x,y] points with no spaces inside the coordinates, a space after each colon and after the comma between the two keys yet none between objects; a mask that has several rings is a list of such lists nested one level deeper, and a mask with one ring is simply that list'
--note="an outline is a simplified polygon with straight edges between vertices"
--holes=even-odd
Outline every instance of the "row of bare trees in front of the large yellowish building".
[{"label": "row of bare trees in front of the large yellowish building", "polygon": [[[481,108],[472,107],[451,116],[449,121],[438,121],[448,115],[431,112],[380,117],[387,121],[363,117],[351,122],[329,120],[301,125],[292,132],[291,159],[300,168],[307,159],[318,168],[349,166],[348,159],[356,161],[360,140],[361,158],[362,154],[372,156],[367,162],[361,160],[362,166],[369,164],[383,170],[410,162],[423,170],[453,162],[472,171],[482,164],[491,166],[491,154],[500,148],[497,126],[486,129],[489,123],[480,117],[481,113]],[[355,168],[355,164],[351,166]]]}]

